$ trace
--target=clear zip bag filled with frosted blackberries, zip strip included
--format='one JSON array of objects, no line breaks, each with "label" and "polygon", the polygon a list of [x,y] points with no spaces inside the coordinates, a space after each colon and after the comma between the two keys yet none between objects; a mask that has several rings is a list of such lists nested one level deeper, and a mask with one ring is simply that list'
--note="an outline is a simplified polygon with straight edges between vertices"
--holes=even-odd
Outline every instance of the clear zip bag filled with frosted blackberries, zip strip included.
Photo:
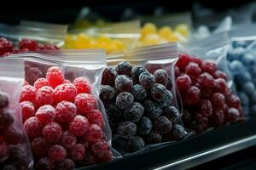
[{"label": "clear zip bag filled with frosted blackberries, zip strip included", "polygon": [[124,156],[185,138],[177,104],[177,44],[110,54],[100,98],[112,129],[113,149]]}]

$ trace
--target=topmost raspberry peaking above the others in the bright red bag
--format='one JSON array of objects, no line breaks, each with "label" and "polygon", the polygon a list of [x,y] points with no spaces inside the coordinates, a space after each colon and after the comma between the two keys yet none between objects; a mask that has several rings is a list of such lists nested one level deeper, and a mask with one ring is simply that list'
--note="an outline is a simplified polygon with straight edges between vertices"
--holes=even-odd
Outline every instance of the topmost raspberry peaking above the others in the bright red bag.
[{"label": "topmost raspberry peaking above the others in the bright red bag", "polygon": [[64,82],[64,74],[57,66],[52,66],[46,72],[46,79],[52,88],[61,85]]}]

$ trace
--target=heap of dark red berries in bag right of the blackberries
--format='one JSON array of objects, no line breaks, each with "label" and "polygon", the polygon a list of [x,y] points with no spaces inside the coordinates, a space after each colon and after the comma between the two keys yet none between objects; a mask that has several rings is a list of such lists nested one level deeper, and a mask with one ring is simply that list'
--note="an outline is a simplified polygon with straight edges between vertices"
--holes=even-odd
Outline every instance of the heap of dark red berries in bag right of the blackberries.
[{"label": "heap of dark red berries in bag right of the blackberries", "polygon": [[240,99],[227,87],[227,75],[214,61],[180,54],[175,71],[186,127],[201,133],[241,120]]}]

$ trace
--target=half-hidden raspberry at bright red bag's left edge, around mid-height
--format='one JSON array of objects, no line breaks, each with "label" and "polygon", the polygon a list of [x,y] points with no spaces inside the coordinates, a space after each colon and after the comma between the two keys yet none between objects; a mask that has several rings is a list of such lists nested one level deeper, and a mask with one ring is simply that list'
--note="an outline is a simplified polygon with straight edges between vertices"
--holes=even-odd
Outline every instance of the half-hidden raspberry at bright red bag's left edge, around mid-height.
[{"label": "half-hidden raspberry at bright red bag's left edge, around mid-height", "polygon": [[25,122],[29,117],[35,116],[35,107],[30,101],[22,101],[20,106],[22,110],[22,122]]}]

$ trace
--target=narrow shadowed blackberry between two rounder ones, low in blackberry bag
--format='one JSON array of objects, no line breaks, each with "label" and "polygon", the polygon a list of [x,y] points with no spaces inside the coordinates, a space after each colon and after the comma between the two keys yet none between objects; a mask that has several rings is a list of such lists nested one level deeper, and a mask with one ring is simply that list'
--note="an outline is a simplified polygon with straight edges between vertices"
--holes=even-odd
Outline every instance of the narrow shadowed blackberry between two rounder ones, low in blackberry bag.
[{"label": "narrow shadowed blackberry between two rounder ones, low in blackberry bag", "polygon": [[151,132],[153,124],[148,117],[143,116],[137,124],[137,133],[141,136],[145,136]]}]

